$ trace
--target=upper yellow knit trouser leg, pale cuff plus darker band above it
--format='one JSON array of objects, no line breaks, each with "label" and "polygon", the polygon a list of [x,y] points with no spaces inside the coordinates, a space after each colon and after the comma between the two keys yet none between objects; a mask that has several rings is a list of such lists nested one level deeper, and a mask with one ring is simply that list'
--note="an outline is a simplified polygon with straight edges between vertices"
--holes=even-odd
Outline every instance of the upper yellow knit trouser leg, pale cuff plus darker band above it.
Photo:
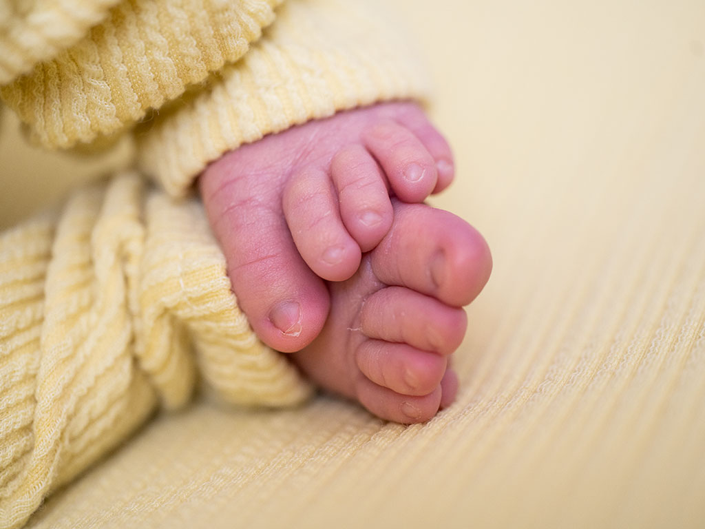
[{"label": "upper yellow knit trouser leg, pale cuff plus darker band above it", "polygon": [[131,130],[140,168],[171,195],[243,142],[425,95],[417,58],[379,3],[288,0],[274,22],[281,1],[123,0],[0,95],[46,147]]}]

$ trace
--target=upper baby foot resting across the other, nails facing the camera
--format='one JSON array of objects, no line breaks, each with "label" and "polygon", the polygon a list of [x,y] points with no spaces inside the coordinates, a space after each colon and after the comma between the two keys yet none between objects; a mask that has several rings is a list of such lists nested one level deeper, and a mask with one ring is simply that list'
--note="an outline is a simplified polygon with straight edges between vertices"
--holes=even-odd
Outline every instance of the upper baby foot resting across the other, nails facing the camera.
[{"label": "upper baby foot resting across the other, nails facing the camera", "polygon": [[238,304],[264,343],[299,351],[388,232],[389,195],[421,202],[453,179],[441,134],[412,103],[311,121],[228,152],[199,186]]}]

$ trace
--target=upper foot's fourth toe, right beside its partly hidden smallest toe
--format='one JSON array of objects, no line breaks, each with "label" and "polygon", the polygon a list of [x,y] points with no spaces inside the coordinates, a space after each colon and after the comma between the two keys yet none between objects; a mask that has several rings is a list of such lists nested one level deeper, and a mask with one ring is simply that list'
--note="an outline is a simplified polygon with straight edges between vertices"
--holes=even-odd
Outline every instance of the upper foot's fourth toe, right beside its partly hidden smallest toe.
[{"label": "upper foot's fourth toe, right beside its partly hidden smallest toe", "polygon": [[422,202],[436,188],[436,161],[405,126],[381,120],[362,133],[365,147],[384,169],[392,190],[404,202]]}]

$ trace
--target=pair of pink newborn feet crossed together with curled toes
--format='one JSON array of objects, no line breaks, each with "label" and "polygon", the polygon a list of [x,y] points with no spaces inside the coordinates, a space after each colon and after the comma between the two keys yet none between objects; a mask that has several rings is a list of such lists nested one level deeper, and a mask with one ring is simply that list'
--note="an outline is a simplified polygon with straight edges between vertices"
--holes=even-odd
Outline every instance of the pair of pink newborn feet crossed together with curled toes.
[{"label": "pair of pink newborn feet crossed together with curled toes", "polygon": [[455,399],[460,307],[491,270],[465,221],[404,203],[452,180],[450,148],[419,107],[389,103],[228,152],[199,184],[260,339],[298,351],[322,387],[411,423]]}]

